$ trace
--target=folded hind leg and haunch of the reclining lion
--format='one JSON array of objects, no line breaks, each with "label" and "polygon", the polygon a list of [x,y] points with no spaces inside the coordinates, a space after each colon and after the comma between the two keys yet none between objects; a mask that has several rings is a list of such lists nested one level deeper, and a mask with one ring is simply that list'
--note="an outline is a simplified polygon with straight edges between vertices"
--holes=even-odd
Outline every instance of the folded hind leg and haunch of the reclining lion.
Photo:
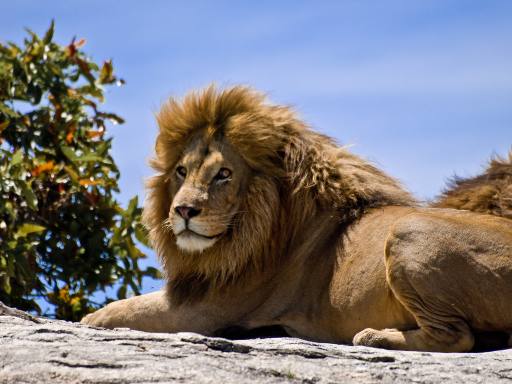
[{"label": "folded hind leg and haunch of the reclining lion", "polygon": [[412,214],[395,223],[386,243],[388,284],[418,329],[366,329],[354,344],[464,352],[474,346],[474,329],[510,329],[512,227],[497,220]]}]

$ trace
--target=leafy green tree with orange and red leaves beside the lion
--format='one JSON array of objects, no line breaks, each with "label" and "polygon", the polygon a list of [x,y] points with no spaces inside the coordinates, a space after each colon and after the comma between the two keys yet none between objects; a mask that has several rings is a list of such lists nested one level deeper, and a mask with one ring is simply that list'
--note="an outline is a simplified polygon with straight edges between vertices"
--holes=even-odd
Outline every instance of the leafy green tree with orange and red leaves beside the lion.
[{"label": "leafy green tree with orange and red leaves beside the lion", "polygon": [[53,42],[53,27],[44,38],[27,30],[24,50],[0,44],[0,301],[40,313],[43,299],[76,321],[112,301],[95,292],[118,283],[118,298],[138,294],[158,271],[137,264],[132,237],[147,244],[137,197],[126,209],[113,198],[105,122],[123,119],[97,104],[123,81],[79,50],[84,40]]}]

